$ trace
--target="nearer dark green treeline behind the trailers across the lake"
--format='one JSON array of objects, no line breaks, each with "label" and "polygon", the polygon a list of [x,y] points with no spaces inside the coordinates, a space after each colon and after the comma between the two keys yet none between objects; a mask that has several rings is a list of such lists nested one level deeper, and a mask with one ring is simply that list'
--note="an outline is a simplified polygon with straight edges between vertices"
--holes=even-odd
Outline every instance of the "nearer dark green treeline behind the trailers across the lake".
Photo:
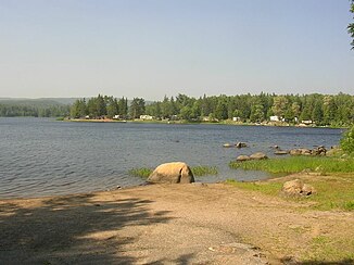
[{"label": "nearer dark green treeline behind the trailers across the lake", "polygon": [[88,101],[77,100],[71,109],[72,117],[90,116],[139,118],[151,115],[156,119],[225,121],[236,117],[240,122],[262,123],[270,116],[299,123],[313,121],[316,125],[344,126],[354,122],[354,97],[329,94],[269,94],[212,96],[192,98],[186,94],[164,97],[162,101],[146,104],[135,98],[128,104],[125,98],[99,94]]}]

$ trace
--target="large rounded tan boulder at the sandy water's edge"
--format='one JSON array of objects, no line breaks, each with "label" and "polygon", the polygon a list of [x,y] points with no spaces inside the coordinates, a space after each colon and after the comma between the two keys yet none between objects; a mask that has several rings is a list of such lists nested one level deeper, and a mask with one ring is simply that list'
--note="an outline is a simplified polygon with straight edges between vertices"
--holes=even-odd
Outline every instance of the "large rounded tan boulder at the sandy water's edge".
[{"label": "large rounded tan boulder at the sandy water's edge", "polygon": [[150,174],[148,182],[151,184],[190,184],[194,176],[190,167],[184,162],[172,162],[157,166]]}]

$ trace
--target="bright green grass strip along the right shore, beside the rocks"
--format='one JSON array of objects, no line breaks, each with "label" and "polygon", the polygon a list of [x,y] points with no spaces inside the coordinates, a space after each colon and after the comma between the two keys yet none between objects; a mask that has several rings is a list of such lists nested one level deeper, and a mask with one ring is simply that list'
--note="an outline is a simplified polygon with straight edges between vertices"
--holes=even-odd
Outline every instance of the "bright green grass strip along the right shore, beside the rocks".
[{"label": "bright green grass strip along the right shore, beside the rocks", "polygon": [[273,174],[299,173],[304,169],[327,173],[354,173],[354,159],[324,157],[324,156],[289,156],[286,159],[270,159],[245,162],[230,162],[231,168],[245,171],[265,171]]}]

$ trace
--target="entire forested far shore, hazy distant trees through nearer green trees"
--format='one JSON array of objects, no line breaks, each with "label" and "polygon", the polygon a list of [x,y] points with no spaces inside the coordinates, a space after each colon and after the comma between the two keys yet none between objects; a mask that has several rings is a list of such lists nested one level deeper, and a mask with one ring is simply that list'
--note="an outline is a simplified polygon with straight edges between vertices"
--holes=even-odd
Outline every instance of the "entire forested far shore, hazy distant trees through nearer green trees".
[{"label": "entire forested far shore, hazy distant trees through nearer green trees", "polygon": [[76,99],[72,104],[51,101],[0,100],[0,116],[116,118],[188,122],[289,123],[349,126],[354,123],[354,96],[338,94],[186,94],[147,102],[112,96]]}]

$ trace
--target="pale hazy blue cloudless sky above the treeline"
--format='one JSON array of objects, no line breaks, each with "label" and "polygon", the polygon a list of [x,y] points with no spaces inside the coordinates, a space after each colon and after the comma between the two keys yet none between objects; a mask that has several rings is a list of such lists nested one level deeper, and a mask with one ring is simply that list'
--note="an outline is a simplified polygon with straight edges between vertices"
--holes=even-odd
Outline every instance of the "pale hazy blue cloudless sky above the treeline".
[{"label": "pale hazy blue cloudless sky above the treeline", "polygon": [[353,94],[349,9],[349,0],[0,0],[0,98]]}]

